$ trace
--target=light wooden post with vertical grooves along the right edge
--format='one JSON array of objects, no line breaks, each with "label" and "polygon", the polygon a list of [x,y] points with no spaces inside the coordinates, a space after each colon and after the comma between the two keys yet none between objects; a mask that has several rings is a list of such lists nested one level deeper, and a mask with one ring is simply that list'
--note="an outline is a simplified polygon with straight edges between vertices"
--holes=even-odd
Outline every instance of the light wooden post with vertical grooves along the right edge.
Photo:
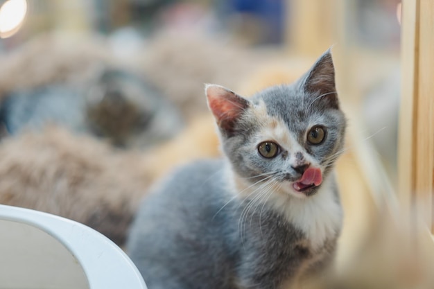
[{"label": "light wooden post with vertical grooves along the right edge", "polygon": [[434,1],[404,0],[399,194],[433,232]]}]

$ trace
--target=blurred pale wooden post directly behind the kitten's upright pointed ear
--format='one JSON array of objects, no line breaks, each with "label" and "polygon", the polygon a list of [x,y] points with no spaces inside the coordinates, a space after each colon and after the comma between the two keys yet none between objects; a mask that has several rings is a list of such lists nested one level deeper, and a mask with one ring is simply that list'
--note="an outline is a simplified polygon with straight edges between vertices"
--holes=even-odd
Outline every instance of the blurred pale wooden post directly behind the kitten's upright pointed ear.
[{"label": "blurred pale wooden post directly behind the kitten's upright pointed ear", "polygon": [[[354,12],[354,3],[347,0],[286,0],[286,46],[297,56],[315,60],[333,46],[338,91],[358,99],[354,79],[347,61],[350,48],[345,40],[345,13]],[[336,46],[334,46],[336,44]]]}]

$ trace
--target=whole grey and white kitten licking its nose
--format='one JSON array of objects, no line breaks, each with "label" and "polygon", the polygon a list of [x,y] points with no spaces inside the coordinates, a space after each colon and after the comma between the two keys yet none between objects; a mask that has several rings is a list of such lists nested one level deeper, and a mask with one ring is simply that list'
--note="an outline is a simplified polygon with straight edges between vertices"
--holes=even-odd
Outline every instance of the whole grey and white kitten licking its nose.
[{"label": "whole grey and white kitten licking its nose", "polygon": [[327,267],[346,122],[330,52],[291,85],[206,94],[225,158],[180,168],[141,204],[127,250],[148,288],[287,288]]}]

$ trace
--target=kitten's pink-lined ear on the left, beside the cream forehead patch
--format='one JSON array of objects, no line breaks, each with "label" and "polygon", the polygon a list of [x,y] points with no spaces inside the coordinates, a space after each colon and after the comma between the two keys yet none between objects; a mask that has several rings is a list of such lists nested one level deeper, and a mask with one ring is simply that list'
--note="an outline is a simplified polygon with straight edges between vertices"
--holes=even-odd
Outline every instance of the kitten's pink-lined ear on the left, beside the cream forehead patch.
[{"label": "kitten's pink-lined ear on the left, beside the cream forehead patch", "polygon": [[218,127],[232,134],[236,120],[249,107],[249,100],[220,85],[206,85],[205,94]]}]

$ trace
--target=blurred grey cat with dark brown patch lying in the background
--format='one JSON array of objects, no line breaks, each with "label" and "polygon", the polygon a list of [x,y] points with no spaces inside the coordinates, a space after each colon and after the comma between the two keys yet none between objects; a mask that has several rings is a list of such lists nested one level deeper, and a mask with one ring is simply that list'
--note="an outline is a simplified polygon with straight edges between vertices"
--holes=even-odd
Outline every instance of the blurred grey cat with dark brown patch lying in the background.
[{"label": "blurred grey cat with dark brown patch lying in the background", "polygon": [[84,87],[55,82],[11,91],[1,103],[0,121],[9,134],[55,124],[123,148],[153,146],[180,131],[175,107],[139,76],[109,68],[98,74]]}]

